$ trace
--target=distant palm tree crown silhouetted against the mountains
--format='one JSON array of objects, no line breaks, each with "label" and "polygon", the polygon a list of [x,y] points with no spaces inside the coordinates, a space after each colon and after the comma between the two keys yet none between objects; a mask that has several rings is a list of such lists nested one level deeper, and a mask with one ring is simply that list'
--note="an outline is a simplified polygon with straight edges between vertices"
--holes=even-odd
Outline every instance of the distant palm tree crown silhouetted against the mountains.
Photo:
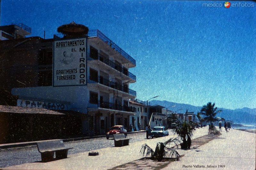
[{"label": "distant palm tree crown silhouetted against the mountains", "polygon": [[217,107],[214,107],[215,103],[212,104],[212,102],[208,102],[206,105],[204,105],[201,109],[200,115],[204,115],[204,120],[206,122],[212,122],[219,121],[219,120],[225,120],[221,117],[215,117],[218,112],[221,112],[222,110],[217,110]]}]

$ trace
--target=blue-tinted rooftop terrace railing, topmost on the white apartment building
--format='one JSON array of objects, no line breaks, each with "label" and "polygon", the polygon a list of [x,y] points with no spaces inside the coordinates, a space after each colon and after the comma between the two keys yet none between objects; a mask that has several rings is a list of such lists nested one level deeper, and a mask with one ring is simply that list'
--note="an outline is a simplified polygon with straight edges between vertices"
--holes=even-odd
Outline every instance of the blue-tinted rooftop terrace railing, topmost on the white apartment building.
[{"label": "blue-tinted rooftop terrace railing, topmost on the white apartment building", "polygon": [[124,52],[119,46],[117,46],[111,39],[109,39],[106,35],[104,35],[99,30],[89,30],[88,37],[99,37],[102,41],[108,43],[109,46],[114,48],[118,53],[124,56],[127,60],[131,61],[132,64],[136,66],[136,60],[134,60],[129,54]]}]

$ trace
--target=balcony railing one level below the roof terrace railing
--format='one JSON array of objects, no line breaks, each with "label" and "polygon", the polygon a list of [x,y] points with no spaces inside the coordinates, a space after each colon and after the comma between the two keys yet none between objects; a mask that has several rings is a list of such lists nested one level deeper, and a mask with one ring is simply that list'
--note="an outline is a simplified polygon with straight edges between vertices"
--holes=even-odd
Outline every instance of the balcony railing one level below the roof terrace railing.
[{"label": "balcony railing one level below the roof terrace railing", "polygon": [[98,53],[98,56],[91,56],[90,53],[88,53],[87,55],[88,55],[87,60],[100,60],[101,62],[107,64],[108,66],[116,69],[117,71],[123,73],[124,75],[127,75],[128,77],[136,81],[136,75],[127,71],[128,70],[127,68],[119,66],[114,61],[109,60],[107,57],[100,55],[100,53]]}]

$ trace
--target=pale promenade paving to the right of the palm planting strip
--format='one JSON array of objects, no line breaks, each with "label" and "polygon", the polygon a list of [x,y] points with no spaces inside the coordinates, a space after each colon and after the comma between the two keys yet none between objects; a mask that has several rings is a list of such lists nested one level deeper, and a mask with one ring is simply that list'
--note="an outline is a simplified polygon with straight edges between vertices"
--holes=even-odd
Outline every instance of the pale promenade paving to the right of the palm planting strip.
[{"label": "pale promenade paving to the right of the palm planting strip", "polygon": [[[197,148],[196,150],[199,152],[189,150],[181,158],[181,161],[171,163],[163,170],[201,168],[205,170],[255,170],[256,134],[235,129],[230,129],[229,132],[222,130],[221,133],[219,138]],[[196,168],[196,165],[199,168]],[[219,165],[225,167],[218,167]]]}]

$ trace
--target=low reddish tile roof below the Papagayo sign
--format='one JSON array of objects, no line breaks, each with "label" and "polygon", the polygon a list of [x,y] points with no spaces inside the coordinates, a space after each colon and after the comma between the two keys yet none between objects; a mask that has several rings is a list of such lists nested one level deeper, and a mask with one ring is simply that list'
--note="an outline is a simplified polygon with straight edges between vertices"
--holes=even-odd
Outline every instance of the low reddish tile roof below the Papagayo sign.
[{"label": "low reddish tile roof below the Papagayo sign", "polygon": [[65,115],[56,110],[0,105],[0,113]]}]

